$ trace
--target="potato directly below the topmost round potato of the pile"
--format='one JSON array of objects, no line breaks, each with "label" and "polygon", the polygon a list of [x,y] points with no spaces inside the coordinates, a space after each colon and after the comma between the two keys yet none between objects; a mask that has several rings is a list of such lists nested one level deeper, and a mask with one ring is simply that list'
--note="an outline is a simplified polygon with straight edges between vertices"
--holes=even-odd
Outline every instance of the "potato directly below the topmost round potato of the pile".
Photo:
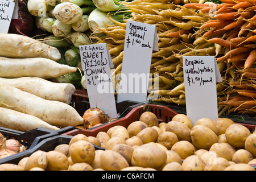
[{"label": "potato directly below the topmost round potato of the pile", "polygon": [[145,129],[141,130],[136,136],[142,140],[143,144],[145,144],[149,142],[156,142],[156,140],[158,139],[158,132],[152,127],[146,127]]}]

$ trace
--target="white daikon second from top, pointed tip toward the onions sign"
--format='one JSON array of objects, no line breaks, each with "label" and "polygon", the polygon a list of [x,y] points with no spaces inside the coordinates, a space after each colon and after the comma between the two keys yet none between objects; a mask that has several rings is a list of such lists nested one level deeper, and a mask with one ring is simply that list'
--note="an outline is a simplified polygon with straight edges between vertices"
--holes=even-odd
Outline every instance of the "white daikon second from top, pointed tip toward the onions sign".
[{"label": "white daikon second from top, pointed tip toward the onions sign", "polygon": [[[1,49],[1,48],[0,48]],[[9,58],[0,57],[0,77],[18,78],[25,76],[54,78],[76,72],[77,68],[59,64],[42,57]]]}]

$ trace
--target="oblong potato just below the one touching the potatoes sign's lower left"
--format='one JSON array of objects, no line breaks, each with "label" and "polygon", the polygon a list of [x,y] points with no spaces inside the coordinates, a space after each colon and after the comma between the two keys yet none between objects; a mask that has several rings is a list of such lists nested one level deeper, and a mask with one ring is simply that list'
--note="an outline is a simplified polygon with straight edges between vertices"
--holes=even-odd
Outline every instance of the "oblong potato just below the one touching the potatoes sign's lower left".
[{"label": "oblong potato just below the one touching the potatoes sign's lower left", "polygon": [[179,121],[171,121],[166,125],[166,131],[171,131],[177,135],[179,140],[191,141],[191,129]]}]

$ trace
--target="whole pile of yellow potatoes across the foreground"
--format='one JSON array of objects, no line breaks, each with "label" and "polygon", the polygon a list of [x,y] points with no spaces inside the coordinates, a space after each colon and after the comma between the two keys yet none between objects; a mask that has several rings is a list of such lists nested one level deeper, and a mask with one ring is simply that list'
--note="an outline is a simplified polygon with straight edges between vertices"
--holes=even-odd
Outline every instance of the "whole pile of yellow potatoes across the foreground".
[{"label": "whole pile of yellow potatoes across the foreground", "polygon": [[[95,150],[93,144],[105,150]],[[171,122],[144,112],[127,128],[114,126],[96,137],[75,135],[53,151],[36,151],[0,170],[68,171],[255,171],[256,133],[228,118],[199,119],[184,114]]]}]

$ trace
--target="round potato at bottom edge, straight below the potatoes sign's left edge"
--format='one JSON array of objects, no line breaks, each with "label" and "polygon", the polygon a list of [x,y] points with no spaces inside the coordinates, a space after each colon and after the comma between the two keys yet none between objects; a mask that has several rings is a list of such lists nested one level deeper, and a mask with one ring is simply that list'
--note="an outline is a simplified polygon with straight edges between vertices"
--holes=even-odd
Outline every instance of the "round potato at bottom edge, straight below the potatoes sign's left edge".
[{"label": "round potato at bottom edge, straight below the potatoes sign's left edge", "polygon": [[197,155],[191,155],[184,159],[181,164],[183,171],[204,171],[205,163]]}]

